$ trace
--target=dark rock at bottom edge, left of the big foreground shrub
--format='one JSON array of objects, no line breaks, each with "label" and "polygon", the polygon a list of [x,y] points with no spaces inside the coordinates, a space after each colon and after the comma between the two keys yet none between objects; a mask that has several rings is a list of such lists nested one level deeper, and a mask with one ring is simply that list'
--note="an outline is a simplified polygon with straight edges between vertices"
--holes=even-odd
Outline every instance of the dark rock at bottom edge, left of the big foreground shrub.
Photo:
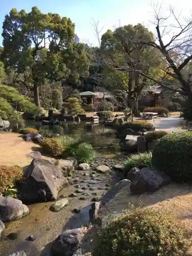
[{"label": "dark rock at bottom edge, left of the big foreground shrub", "polygon": [[81,229],[75,228],[61,233],[53,242],[51,252],[53,256],[73,256],[79,249]]}]

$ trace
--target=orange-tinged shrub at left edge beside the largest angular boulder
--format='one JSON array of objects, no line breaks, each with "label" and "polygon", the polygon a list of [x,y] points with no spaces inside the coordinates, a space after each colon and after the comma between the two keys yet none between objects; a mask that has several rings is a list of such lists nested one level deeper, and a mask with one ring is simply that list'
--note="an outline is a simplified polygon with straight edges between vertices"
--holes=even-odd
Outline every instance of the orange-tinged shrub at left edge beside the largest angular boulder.
[{"label": "orange-tinged shrub at left edge beside the largest angular boulder", "polygon": [[0,165],[0,195],[13,193],[13,190],[11,189],[13,189],[15,181],[22,178],[22,175],[22,167]]}]

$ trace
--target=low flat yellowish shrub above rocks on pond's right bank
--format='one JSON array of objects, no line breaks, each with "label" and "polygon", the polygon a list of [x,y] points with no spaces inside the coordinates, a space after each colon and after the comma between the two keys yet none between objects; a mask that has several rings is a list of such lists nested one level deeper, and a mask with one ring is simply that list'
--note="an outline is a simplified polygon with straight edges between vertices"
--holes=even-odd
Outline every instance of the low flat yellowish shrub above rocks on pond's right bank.
[{"label": "low flat yellowish shrub above rocks on pond's right bank", "polygon": [[152,123],[148,123],[145,121],[128,121],[124,124],[118,125],[117,129],[118,130],[125,130],[125,129],[132,129],[133,131],[141,131],[142,129],[145,130],[151,130],[153,129],[153,124]]}]

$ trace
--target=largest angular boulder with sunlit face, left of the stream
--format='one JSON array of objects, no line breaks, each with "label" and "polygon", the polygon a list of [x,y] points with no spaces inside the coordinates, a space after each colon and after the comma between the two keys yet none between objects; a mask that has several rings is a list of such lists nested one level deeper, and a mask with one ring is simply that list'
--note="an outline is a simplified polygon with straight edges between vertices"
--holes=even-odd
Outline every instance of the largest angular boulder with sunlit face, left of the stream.
[{"label": "largest angular boulder with sunlit face, left of the stream", "polygon": [[24,178],[18,184],[23,201],[45,202],[57,199],[58,191],[68,185],[61,171],[45,159],[33,159],[24,169]]}]

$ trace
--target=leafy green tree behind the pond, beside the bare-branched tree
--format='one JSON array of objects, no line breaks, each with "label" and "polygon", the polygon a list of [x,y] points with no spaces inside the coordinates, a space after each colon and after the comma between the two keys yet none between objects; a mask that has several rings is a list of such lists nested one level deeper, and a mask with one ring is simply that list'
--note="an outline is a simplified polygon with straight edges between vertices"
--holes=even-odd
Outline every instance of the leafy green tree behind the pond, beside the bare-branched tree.
[{"label": "leafy green tree behind the pond, beside the bare-branched tree", "polygon": [[137,110],[138,96],[143,88],[152,84],[151,80],[142,76],[138,70],[155,77],[162,73],[160,54],[152,47],[136,42],[139,39],[153,40],[153,34],[141,24],[119,27],[115,31],[108,30],[101,37],[100,57],[102,56],[105,67],[110,68],[112,74],[116,72],[116,77],[121,75],[121,72],[127,74],[126,85],[118,83],[114,89],[121,87],[121,90],[127,93],[133,110]]}]

